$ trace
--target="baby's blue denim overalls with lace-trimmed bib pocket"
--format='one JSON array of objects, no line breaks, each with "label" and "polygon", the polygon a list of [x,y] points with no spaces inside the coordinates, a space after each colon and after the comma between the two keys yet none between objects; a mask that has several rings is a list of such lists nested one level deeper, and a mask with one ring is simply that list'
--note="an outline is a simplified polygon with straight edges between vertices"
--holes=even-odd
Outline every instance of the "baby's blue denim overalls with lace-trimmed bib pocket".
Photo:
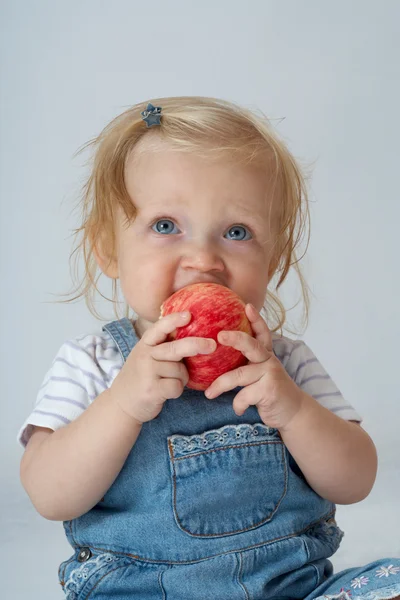
[{"label": "baby's blue denim overalls with lace-trimmed bib pocket", "polygon": [[[126,360],[131,322],[104,330]],[[64,522],[68,600],[304,599],[332,574],[335,505],[255,407],[234,413],[240,389],[208,400],[185,388],[143,424],[105,497]]]}]

